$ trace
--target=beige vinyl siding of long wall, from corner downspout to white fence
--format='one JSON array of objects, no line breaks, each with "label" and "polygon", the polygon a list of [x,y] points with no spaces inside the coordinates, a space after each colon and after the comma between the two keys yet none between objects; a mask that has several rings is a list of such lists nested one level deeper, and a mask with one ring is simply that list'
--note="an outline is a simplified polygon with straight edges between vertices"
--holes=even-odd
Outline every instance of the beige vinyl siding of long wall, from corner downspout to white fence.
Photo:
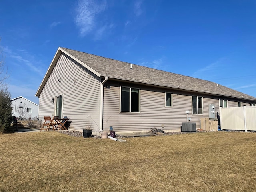
[{"label": "beige vinyl siding of long wall, from corner downspout to white fence", "polygon": [[[215,104],[216,112],[218,112],[218,99],[203,96],[204,114],[192,115],[192,94],[130,85],[133,88],[140,88],[140,113],[120,113],[120,84],[114,82],[107,82],[107,84],[107,88],[104,88],[103,118],[103,126],[106,130],[109,126],[113,126],[115,131],[145,131],[155,126],[164,130],[178,131],[181,123],[187,121],[186,110],[190,112],[191,122],[196,122],[196,128],[200,128],[200,118],[207,118],[209,115],[209,104]],[[122,86],[129,87],[129,84],[122,84]],[[171,108],[165,107],[165,92],[172,93],[173,107]]]}]

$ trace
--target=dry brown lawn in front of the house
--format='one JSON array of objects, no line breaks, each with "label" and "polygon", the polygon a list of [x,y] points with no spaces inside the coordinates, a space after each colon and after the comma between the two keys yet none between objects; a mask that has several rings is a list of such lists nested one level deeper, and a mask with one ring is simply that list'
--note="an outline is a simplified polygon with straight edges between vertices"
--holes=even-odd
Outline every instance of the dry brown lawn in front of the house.
[{"label": "dry brown lawn in front of the house", "polygon": [[256,191],[256,134],[0,136],[0,191]]}]

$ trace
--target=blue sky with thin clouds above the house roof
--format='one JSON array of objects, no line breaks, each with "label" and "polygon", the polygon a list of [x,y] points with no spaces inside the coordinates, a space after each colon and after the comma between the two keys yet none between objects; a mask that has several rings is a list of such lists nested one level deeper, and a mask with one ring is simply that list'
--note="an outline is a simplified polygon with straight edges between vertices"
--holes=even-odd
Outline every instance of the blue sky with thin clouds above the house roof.
[{"label": "blue sky with thin clouds above the house roof", "polygon": [[58,47],[256,97],[256,0],[1,1],[0,37],[12,98],[37,104]]}]

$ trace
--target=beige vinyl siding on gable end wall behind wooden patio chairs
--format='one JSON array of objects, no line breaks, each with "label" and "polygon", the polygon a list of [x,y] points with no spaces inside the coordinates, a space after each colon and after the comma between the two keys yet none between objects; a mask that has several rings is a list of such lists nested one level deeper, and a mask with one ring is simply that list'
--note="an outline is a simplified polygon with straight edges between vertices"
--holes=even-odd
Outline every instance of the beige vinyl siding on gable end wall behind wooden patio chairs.
[{"label": "beige vinyl siding on gable end wall behind wooden patio chairs", "polygon": [[70,129],[82,130],[90,125],[98,131],[100,78],[65,54],[60,56],[40,94],[40,120],[54,115],[58,95],[63,95],[62,117],[70,119]]}]

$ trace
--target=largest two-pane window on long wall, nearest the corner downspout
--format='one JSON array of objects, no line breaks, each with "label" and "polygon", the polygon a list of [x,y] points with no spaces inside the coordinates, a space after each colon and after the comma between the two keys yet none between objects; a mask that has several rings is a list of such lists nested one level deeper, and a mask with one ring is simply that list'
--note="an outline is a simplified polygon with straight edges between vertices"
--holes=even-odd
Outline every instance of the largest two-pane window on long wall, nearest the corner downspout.
[{"label": "largest two-pane window on long wall, nearest the corner downspout", "polygon": [[120,112],[140,112],[140,89],[121,87]]}]

